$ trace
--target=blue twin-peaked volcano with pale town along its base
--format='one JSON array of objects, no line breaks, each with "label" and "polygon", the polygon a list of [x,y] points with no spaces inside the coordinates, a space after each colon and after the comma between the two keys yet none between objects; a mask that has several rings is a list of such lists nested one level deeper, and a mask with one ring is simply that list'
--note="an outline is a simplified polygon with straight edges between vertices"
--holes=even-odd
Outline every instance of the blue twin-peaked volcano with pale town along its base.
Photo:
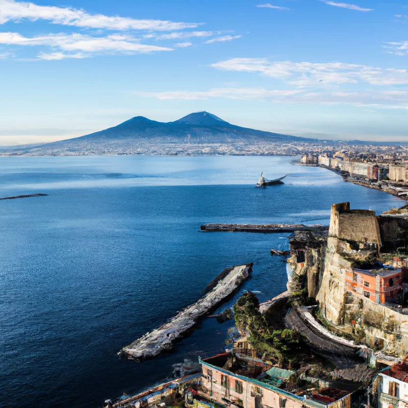
[{"label": "blue twin-peaked volcano with pale town along its base", "polygon": [[[200,149],[208,146],[211,146],[211,151],[207,148],[208,151],[203,151],[203,154],[239,154],[242,146],[296,141],[312,142],[314,139],[247,129],[228,123],[209,112],[196,112],[167,123],[136,116],[89,135],[23,148],[18,154],[200,154]],[[218,145],[216,151],[215,145]],[[230,147],[235,150],[228,150]]]}]

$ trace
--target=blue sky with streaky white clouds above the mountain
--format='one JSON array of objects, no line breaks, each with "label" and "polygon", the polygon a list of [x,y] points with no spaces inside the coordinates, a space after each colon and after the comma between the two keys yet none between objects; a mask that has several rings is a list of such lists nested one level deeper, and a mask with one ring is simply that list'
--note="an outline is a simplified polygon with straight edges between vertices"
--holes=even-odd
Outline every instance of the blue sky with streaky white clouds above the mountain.
[{"label": "blue sky with streaky white clouds above the mountain", "polygon": [[408,141],[408,0],[264,1],[0,0],[0,144],[204,110]]}]

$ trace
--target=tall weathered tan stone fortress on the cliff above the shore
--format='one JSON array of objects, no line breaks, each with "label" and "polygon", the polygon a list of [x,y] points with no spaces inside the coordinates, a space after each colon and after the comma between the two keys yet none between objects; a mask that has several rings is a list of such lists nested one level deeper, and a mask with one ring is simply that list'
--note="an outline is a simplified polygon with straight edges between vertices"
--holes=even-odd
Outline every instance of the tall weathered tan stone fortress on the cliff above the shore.
[{"label": "tall weathered tan stone fortress on the cliff above the shore", "polygon": [[[288,290],[294,293],[306,288],[308,295],[319,302],[323,317],[345,335],[353,334],[356,341],[388,354],[408,353],[408,308],[370,300],[370,279],[360,283],[353,276],[361,265],[378,259],[380,248],[393,246],[392,242],[394,247],[406,246],[406,224],[405,218],[350,210],[348,202],[333,205],[327,238],[314,233],[292,236],[288,262],[294,273]],[[353,286],[360,284],[361,293]],[[397,283],[392,285],[391,292]]]}]

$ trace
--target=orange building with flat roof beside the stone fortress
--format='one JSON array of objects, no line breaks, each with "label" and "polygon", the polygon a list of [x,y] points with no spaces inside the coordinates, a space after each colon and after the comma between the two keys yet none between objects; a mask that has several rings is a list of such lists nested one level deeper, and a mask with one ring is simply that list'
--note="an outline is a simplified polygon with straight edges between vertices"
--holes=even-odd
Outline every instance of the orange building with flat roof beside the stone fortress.
[{"label": "orange building with flat roof beside the stone fortress", "polygon": [[375,303],[396,302],[402,295],[402,270],[347,269],[346,290],[364,296]]}]

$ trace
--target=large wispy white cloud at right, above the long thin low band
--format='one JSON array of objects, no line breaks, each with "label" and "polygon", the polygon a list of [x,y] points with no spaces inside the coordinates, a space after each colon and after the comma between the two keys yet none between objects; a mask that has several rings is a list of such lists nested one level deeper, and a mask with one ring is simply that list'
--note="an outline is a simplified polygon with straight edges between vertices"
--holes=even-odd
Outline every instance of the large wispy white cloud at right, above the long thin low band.
[{"label": "large wispy white cloud at right, above the long thin low band", "polygon": [[359,82],[380,86],[408,85],[406,69],[384,69],[342,62],[270,62],[264,58],[233,58],[211,66],[226,71],[256,72],[286,80],[298,87],[326,87]]}]

